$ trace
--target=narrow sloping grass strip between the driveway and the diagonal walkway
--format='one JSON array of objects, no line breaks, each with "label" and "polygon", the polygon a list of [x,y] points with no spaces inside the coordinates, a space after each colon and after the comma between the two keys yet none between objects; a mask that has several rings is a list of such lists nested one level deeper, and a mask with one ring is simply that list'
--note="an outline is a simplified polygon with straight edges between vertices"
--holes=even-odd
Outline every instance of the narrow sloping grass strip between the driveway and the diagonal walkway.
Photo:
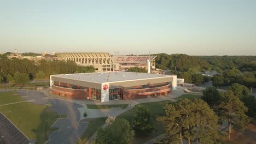
[{"label": "narrow sloping grass strip between the driveway and the diagonal walkway", "polygon": [[77,144],[86,143],[86,141],[95,133],[95,131],[97,131],[97,129],[105,123],[106,119],[107,117],[101,117],[90,121],[84,133],[77,141]]}]

